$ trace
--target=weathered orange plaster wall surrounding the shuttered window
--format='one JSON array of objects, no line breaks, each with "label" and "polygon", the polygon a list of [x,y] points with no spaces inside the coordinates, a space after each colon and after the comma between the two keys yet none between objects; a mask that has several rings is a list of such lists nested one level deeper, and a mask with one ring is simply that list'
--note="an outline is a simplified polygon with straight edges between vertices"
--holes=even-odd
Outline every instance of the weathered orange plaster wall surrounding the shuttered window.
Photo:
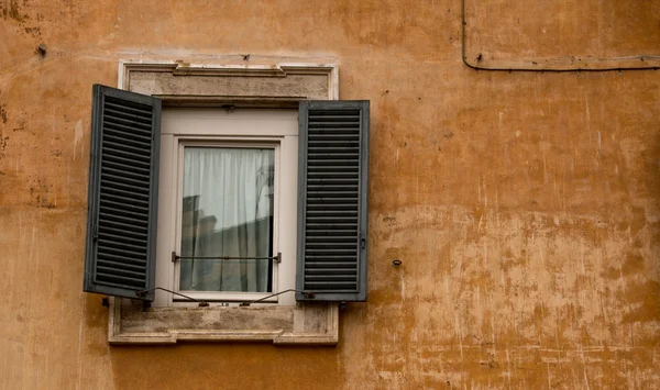
[{"label": "weathered orange plaster wall surrounding the shuttered window", "polygon": [[[472,59],[660,54],[658,1],[472,3]],[[658,388],[660,71],[475,71],[460,10],[0,0],[0,388]],[[333,57],[372,102],[369,302],[336,348],[109,347],[81,292],[91,83],[248,53]]]}]

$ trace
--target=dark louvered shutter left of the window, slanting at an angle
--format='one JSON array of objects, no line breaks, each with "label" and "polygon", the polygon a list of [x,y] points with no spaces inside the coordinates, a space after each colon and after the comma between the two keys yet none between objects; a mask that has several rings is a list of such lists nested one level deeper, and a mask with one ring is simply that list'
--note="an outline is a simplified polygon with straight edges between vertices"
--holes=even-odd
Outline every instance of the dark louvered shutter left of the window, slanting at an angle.
[{"label": "dark louvered shutter left of the window, slanting at an angle", "polygon": [[153,301],[160,125],[160,99],[94,86],[87,292]]}]

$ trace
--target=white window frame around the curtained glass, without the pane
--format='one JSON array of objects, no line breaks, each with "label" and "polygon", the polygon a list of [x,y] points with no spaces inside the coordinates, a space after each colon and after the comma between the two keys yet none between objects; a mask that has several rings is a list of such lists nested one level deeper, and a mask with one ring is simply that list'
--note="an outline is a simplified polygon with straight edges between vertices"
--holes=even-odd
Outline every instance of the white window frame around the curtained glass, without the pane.
[{"label": "white window frame around the curtained glass, without the pane", "polygon": [[[272,292],[179,291],[183,191],[183,149],[185,146],[273,147],[275,149],[275,199],[273,253],[282,261],[273,264]],[[161,166],[158,190],[158,238],[156,286],[174,290],[211,305],[238,305],[264,299],[296,286],[296,221],[298,169],[298,116],[295,110],[274,109],[164,109],[161,124]],[[156,290],[154,307],[196,307],[194,301]],[[264,299],[258,304],[295,304],[294,293]]]}]

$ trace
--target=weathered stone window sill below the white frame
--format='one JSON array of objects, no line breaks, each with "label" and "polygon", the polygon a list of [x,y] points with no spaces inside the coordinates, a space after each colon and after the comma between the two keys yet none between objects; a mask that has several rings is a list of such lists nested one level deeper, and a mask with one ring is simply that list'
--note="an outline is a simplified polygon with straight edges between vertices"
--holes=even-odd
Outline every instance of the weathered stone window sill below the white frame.
[{"label": "weathered stone window sill below the white frame", "polygon": [[337,303],[295,307],[151,308],[110,298],[110,344],[272,342],[275,345],[337,345]]}]

